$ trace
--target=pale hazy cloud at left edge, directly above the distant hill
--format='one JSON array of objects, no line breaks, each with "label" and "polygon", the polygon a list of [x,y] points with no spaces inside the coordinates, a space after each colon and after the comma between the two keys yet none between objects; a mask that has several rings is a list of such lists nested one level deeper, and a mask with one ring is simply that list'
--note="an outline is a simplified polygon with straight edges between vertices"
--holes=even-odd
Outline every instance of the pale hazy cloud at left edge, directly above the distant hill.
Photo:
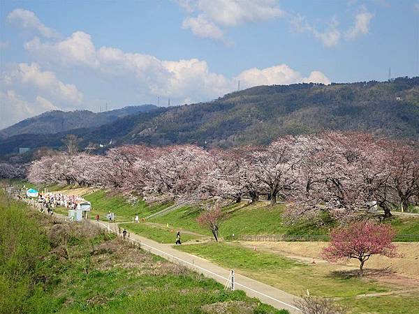
[{"label": "pale hazy cloud at left edge, directly above the distant hill", "polygon": [[45,111],[59,109],[50,100],[41,96],[37,96],[29,102],[13,89],[0,91],[0,103],[1,107],[3,107],[3,110],[1,110],[0,129]]}]

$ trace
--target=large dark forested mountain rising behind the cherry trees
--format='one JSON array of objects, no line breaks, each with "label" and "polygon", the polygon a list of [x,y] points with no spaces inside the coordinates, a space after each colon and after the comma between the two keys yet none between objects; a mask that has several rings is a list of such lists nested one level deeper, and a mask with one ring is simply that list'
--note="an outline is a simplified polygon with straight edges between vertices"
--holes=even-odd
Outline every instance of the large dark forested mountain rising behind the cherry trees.
[{"label": "large dark forested mountain rising behind the cherry trees", "polygon": [[[285,134],[322,130],[365,130],[375,135],[417,139],[419,77],[392,82],[292,84],[252,87],[208,103],[159,108],[96,128],[72,130],[89,142],[152,145],[194,143],[205,147],[267,144]],[[17,147],[60,147],[69,132],[0,141],[0,151]]]}]

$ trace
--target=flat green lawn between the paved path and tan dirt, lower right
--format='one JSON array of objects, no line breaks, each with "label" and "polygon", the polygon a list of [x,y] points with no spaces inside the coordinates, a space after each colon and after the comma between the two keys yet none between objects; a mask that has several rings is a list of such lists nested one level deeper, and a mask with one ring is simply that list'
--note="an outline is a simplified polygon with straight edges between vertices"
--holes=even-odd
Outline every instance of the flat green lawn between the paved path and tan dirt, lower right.
[{"label": "flat green lawn between the paved path and tan dirt, lower right", "polygon": [[235,244],[196,244],[178,246],[177,249],[293,294],[305,294],[308,289],[312,295],[338,298],[337,302],[348,306],[351,313],[417,313],[419,308],[419,299],[413,292],[406,292],[403,296],[357,297],[390,291],[397,294],[400,288],[372,279],[360,279],[347,269],[339,271],[339,267],[335,267],[332,271],[328,264],[296,262]]}]

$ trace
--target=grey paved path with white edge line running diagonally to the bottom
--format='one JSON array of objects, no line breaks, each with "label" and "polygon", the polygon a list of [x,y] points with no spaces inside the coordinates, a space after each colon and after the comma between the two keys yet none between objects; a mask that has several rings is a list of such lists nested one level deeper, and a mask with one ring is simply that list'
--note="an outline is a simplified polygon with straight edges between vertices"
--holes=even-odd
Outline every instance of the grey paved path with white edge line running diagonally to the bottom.
[{"label": "grey paved path with white edge line running diagonally to the bottom", "polygon": [[[111,230],[117,233],[118,228],[116,223],[103,223],[91,221],[92,223],[99,225],[100,227]],[[230,276],[230,270],[219,267],[208,260],[201,257],[191,255],[182,251],[177,251],[175,248],[168,244],[159,244],[156,241],[141,237],[138,234],[131,232],[129,239],[131,241],[140,244],[142,249],[149,251],[155,255],[164,257],[170,262],[181,264],[184,267],[198,271],[206,277],[213,278],[214,280],[226,284],[228,277]],[[297,279],[296,279],[297,280]],[[298,308],[293,306],[293,302],[297,297],[293,294],[289,294],[277,288],[260,283],[246,276],[235,273],[235,286],[238,290],[244,290],[249,297],[256,297],[266,304],[270,304],[275,308],[290,311],[290,313],[301,313]]]}]

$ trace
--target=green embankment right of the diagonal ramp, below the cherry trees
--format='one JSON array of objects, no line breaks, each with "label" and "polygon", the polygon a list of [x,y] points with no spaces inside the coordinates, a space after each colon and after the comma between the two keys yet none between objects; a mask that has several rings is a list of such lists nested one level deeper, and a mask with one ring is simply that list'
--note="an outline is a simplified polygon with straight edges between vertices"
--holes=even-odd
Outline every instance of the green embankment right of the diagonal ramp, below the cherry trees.
[{"label": "green embankment right of the diagonal ramp, below the cherry trees", "polygon": [[[223,208],[224,217],[219,226],[219,232],[224,239],[237,239],[242,235],[278,234],[284,239],[302,239],[314,241],[327,241],[329,230],[335,223],[329,216],[323,215],[321,224],[318,220],[301,220],[293,225],[284,222],[284,204],[270,207],[265,202],[256,204],[233,204]],[[200,234],[210,235],[210,230],[201,227],[196,222],[200,214],[197,207],[182,207],[165,216],[152,218],[152,222],[168,223],[177,229],[191,230]],[[419,218],[411,216],[395,216],[386,221],[396,230],[396,241],[418,241]],[[235,237],[233,237],[235,234]],[[414,237],[402,236],[411,234]]]}]

